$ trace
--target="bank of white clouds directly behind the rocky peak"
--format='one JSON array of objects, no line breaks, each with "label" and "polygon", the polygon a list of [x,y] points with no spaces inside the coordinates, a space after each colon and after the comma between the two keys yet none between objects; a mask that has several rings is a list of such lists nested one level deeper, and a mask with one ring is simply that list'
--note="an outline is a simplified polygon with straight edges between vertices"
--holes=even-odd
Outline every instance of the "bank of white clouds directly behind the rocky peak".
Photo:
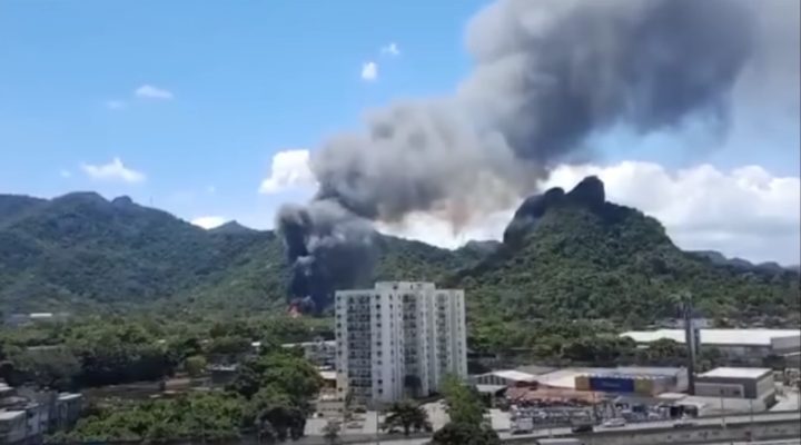
[{"label": "bank of white clouds directly behind the rocky peak", "polygon": [[[759,166],[722,171],[711,165],[669,171],[651,162],[557,168],[543,187],[571,188],[597,175],[611,201],[657,218],[683,249],[713,249],[753,261],[800,261],[801,179]],[[474,221],[459,234],[431,216],[413,215],[382,231],[456,247],[469,239],[501,239],[514,208]]]}]

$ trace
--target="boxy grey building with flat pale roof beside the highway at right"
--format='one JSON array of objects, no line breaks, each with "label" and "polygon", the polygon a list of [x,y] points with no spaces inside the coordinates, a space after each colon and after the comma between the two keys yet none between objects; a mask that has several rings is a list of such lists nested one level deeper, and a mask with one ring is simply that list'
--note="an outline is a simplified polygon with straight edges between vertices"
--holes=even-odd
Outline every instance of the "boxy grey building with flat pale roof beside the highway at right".
[{"label": "boxy grey building with flat pale roof beside the highway at right", "polygon": [[695,377],[695,395],[759,399],[772,405],[775,398],[773,370],[720,367]]}]

